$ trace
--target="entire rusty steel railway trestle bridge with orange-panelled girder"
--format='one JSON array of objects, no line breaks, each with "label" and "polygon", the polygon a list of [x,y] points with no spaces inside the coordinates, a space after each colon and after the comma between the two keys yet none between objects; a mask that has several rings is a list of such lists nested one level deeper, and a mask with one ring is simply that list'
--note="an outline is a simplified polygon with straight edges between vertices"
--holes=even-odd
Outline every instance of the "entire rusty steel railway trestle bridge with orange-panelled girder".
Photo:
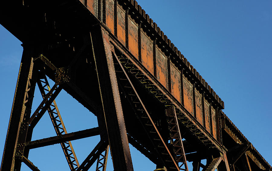
[{"label": "entire rusty steel railway trestle bridge with orange-panelled girder", "polygon": [[[1,171],[20,170],[31,149],[61,144],[71,171],[133,170],[129,143],[157,170],[251,171],[272,167],[224,114],[224,102],[135,0],[4,1],[0,24],[24,48]],[[47,78],[55,83],[50,86]],[[36,86],[37,85],[37,86]],[[43,100],[31,109],[34,91]],[[99,127],[68,133],[61,90]],[[31,140],[48,112],[56,136]],[[79,163],[70,141],[100,135]],[[201,160],[206,159],[206,165]]]}]

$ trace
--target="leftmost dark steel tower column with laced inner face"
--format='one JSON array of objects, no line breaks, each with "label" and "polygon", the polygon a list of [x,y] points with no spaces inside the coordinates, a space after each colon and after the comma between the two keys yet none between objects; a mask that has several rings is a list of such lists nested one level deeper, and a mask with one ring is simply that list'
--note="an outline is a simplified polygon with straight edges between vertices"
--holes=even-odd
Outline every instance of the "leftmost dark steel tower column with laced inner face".
[{"label": "leftmost dark steel tower column with laced inner face", "polygon": [[[24,51],[21,59],[11,115],[8,124],[8,132],[1,163],[1,171],[19,170],[21,168],[21,160],[18,158],[22,157],[23,154],[25,154],[26,157],[28,156],[28,150],[24,151],[24,147],[18,145],[24,144],[26,140],[26,132],[28,126],[27,121],[31,115],[31,106],[36,85],[36,80],[33,76],[35,71],[32,73],[32,70],[33,47],[24,45]],[[28,139],[31,139],[31,137]],[[17,148],[22,149],[18,150]]]}]

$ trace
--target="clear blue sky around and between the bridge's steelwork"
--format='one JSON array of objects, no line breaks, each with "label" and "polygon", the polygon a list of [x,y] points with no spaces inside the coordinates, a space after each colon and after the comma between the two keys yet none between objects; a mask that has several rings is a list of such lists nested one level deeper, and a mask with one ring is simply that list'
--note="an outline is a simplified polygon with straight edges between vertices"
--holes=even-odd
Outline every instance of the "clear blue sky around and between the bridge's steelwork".
[{"label": "clear blue sky around and between the bridge's steelwork", "polygon": [[[271,165],[272,1],[138,0],[138,4],[222,98],[225,114]],[[21,60],[20,44],[0,26],[0,159]],[[34,108],[42,99],[39,92],[35,99]],[[66,92],[56,101],[68,132],[97,126],[94,115]],[[33,140],[54,135],[46,113]],[[72,142],[79,163],[98,140],[91,137]],[[131,151],[134,170],[155,169],[133,148]],[[56,153],[50,156],[51,152]],[[69,170],[58,144],[31,150],[29,159],[40,170]],[[107,170],[113,170],[110,161],[108,164]],[[23,164],[21,170],[30,169]]]}]

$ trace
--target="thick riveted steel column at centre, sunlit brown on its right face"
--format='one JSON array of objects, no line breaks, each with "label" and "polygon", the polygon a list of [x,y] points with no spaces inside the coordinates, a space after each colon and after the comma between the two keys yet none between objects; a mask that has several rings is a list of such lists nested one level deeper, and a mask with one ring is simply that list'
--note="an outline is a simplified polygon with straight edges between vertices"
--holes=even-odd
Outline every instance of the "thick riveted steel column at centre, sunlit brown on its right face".
[{"label": "thick riveted steel column at centre, sunlit brown on its right face", "polygon": [[133,170],[125,121],[108,34],[101,26],[91,32],[103,113],[115,170]]}]

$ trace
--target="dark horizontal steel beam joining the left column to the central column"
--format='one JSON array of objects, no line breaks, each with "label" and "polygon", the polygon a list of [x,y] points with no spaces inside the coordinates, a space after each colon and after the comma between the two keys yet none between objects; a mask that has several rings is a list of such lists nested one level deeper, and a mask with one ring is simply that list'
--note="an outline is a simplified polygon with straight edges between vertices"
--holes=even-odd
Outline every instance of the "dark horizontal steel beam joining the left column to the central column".
[{"label": "dark horizontal steel beam joining the left column to the central column", "polygon": [[86,129],[83,131],[72,132],[68,134],[58,135],[54,137],[44,138],[40,140],[30,141],[25,143],[29,149],[44,147],[48,145],[58,144],[66,141],[78,140],[81,138],[92,137],[99,135],[99,127]]}]

